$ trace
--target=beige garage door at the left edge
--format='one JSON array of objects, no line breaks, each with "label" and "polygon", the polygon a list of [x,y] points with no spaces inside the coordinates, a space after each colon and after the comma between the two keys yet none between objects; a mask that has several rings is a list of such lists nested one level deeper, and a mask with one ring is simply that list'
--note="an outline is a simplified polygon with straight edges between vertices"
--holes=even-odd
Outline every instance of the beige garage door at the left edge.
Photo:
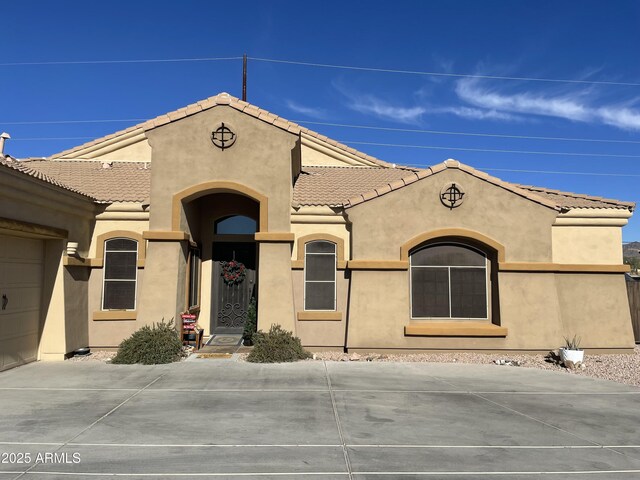
[{"label": "beige garage door at the left edge", "polygon": [[36,360],[44,242],[0,234],[0,371]]}]

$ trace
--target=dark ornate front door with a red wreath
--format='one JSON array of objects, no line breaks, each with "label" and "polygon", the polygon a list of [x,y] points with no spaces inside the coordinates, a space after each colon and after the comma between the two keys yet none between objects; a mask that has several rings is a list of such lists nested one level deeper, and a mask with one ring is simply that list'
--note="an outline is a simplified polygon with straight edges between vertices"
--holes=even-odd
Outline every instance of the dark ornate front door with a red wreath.
[{"label": "dark ornate front door with a red wreath", "polygon": [[242,333],[257,296],[255,242],[214,242],[211,333]]}]

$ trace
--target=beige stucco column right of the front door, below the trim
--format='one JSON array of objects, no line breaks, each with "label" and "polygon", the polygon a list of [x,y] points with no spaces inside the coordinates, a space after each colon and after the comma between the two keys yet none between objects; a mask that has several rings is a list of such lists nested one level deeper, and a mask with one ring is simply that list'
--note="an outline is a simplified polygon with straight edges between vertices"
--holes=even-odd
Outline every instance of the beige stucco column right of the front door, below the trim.
[{"label": "beige stucco column right of the front door, below the trim", "polygon": [[258,329],[281,325],[296,334],[291,277],[291,243],[260,243]]}]

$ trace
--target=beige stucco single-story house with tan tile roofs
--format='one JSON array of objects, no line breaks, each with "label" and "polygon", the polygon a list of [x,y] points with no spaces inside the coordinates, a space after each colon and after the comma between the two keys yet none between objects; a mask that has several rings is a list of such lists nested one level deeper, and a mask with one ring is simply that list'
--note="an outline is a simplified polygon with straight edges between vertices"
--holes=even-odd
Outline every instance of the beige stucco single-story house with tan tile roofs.
[{"label": "beige stucco single-story house with tan tile roofs", "polygon": [[633,209],[389,164],[221,93],[0,157],[0,370],[187,311],[238,333],[251,301],[315,349],[628,352]]}]

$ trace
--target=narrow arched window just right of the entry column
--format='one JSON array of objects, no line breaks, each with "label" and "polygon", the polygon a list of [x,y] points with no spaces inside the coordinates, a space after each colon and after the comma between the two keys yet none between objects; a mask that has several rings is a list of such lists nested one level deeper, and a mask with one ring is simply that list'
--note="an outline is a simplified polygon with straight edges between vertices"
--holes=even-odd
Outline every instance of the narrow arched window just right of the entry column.
[{"label": "narrow arched window just right of the entry column", "polygon": [[323,240],[304,247],[304,309],[336,309],[336,244]]}]

